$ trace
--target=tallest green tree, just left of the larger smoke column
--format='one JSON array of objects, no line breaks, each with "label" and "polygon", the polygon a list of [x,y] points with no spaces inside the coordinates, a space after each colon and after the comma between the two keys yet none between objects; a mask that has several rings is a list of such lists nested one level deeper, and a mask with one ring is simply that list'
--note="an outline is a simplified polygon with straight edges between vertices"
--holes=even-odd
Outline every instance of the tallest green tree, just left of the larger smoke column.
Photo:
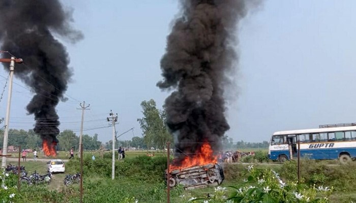
[{"label": "tallest green tree, just left of the larger smoke column", "polygon": [[142,101],[141,107],[143,117],[137,121],[142,129],[147,149],[152,146],[164,148],[166,143],[172,140],[165,124],[165,113],[157,109],[156,101],[153,99]]}]

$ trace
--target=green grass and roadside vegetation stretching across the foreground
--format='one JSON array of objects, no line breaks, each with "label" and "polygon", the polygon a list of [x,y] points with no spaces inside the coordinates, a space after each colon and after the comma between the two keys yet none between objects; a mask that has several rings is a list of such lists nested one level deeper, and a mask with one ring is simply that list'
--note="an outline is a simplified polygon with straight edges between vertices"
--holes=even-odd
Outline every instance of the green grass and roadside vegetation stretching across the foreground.
[{"label": "green grass and roadside vegetation stretching across the foreground", "polygon": [[[283,196],[277,194],[284,193],[291,202],[307,202],[308,197],[309,200],[314,199],[314,202],[356,201],[353,189],[356,187],[356,163],[343,165],[332,161],[302,160],[301,181],[300,184],[294,185],[298,181],[296,161],[269,164],[259,158],[258,154],[255,153],[252,163],[224,164],[225,180],[219,187],[192,191],[184,191],[182,187],[173,188],[171,202],[228,202],[227,198],[230,197],[234,197],[230,202],[248,202],[251,198],[260,198],[262,202],[276,202]],[[116,161],[113,181],[109,153],[103,159],[97,157],[95,160],[92,159],[92,154],[88,153],[83,162],[83,202],[166,202],[164,170],[167,160],[163,154],[154,157],[133,155],[123,161]],[[30,174],[35,170],[40,174],[46,173],[45,162],[27,161],[21,164]],[[64,186],[63,183],[66,174],[80,171],[79,164],[77,157],[66,162],[66,173],[54,174],[48,185],[22,184],[19,191],[12,189],[16,196],[16,201],[13,202],[79,202],[79,184]],[[255,171],[248,170],[249,167]],[[283,184],[290,187],[281,188],[276,174],[279,174]],[[16,184],[17,181],[12,180],[12,185]],[[254,187],[255,192],[250,191],[249,187]],[[274,192],[269,193],[270,191]],[[252,195],[257,193],[259,195],[255,197]],[[241,198],[248,196],[250,199]],[[207,199],[208,197],[210,198]],[[192,201],[193,198],[196,199]]]}]

